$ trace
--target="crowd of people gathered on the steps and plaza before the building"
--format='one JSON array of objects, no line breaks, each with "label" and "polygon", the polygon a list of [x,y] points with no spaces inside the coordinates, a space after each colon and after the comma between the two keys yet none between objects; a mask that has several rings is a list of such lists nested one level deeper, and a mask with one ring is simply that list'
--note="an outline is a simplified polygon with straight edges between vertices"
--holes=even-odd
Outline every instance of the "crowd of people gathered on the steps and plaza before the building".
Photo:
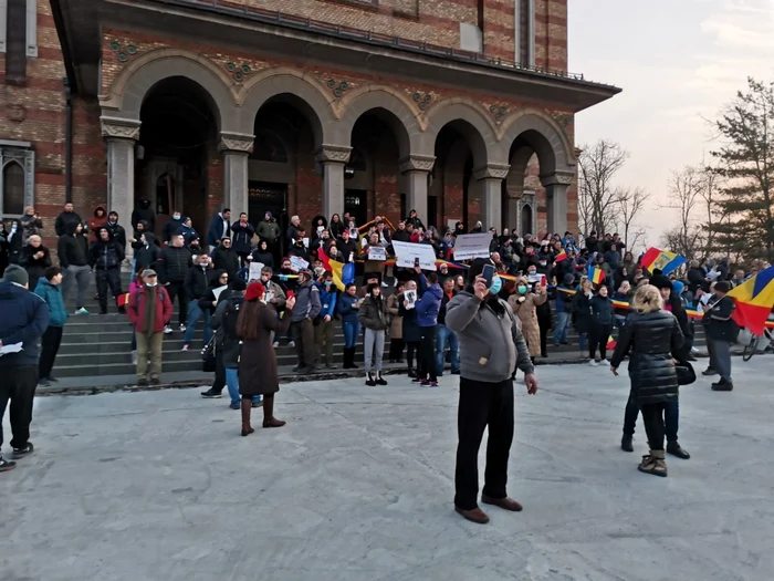
[{"label": "crowd of people gathered on the steps and plaza before the building", "polygon": [[[34,209],[3,230],[0,340],[4,345],[22,343],[23,355],[0,357],[0,366],[14,367],[17,391],[34,394],[39,382],[54,381],[51,370],[67,318],[87,314],[91,276],[101,313],[107,312],[108,290],[116,299],[123,297],[121,267],[128,243],[132,283],[128,299],[116,308],[126,312],[134,329],[138,385],[160,382],[164,336],[174,332],[177,300],[182,349],[194,346],[201,323],[201,347],[213,353],[215,382],[202,396],[221,397],[227,388],[230,406],[241,411],[243,436],[253,432],[254,407],[263,407],[263,427],[284,425],[273,415],[279,390],[275,350],[283,342],[295,349],[299,373],[336,369],[339,325],[344,367],[359,366],[356,353],[362,345],[368,386],[387,385],[385,351],[388,361],[405,363],[411,381],[422,386],[438,386],[447,369],[461,375],[456,506],[477,522],[488,520],[475,502],[475,456],[483,426],[489,423],[490,433],[496,434],[490,437],[492,468],[488,466],[484,502],[520,510],[504,495],[512,381],[515,370],[522,370],[534,393],[536,359],[547,356],[552,340],[555,346],[567,344],[571,326],[590,365],[607,364],[608,349],[614,349],[609,362],[614,373],[624,357],[630,357],[632,386],[621,448],[634,450],[641,413],[650,453],[640,469],[666,476],[665,447],[659,447],[665,436],[666,452],[690,457],[677,439],[677,385],[684,380],[678,372],[692,373],[690,362],[695,361],[694,320],[701,319],[708,336],[710,365],[704,374],[720,375],[713,390],[731,391],[730,347],[738,330],[728,292],[754,274],[731,274],[724,260],[691,262],[684,276],[650,272],[618,235],[596,232],[533,237],[490,229],[488,257],[456,261],[458,237],[483,234],[481,224],[468,231],[458,222],[441,234],[426,228],[414,210],[397,227],[381,217],[358,226],[345,214],[330,220],[317,216],[307,229],[293,216],[282,232],[271,212],[254,225],[245,214],[232,222],[231,212],[223,209],[212,217],[203,243],[190,219],[178,211],[164,226],[160,239],[154,236],[156,217],[148,204],[133,214],[129,238],[118,218],[100,207],[86,224],[67,204],[55,224],[59,266],[42,245],[42,224]],[[398,267],[394,242],[431,246],[437,270],[423,270],[418,261]],[[337,280],[331,261],[355,264],[363,283]],[[492,272],[485,277],[488,268]],[[65,298],[73,290],[76,308],[71,313]],[[14,318],[4,317],[10,310]],[[689,317],[695,312],[699,318]],[[492,335],[500,328],[502,332]],[[616,329],[614,347],[609,340]],[[503,333],[512,336],[512,344],[503,343]],[[666,383],[651,381],[659,366],[666,370]],[[3,393],[0,409],[4,412],[10,398],[11,444],[13,456],[20,458],[32,452],[31,396],[17,396],[14,404],[15,392]],[[499,418],[494,424],[489,419],[492,414]],[[0,463],[4,463],[0,469],[12,465]]]}]

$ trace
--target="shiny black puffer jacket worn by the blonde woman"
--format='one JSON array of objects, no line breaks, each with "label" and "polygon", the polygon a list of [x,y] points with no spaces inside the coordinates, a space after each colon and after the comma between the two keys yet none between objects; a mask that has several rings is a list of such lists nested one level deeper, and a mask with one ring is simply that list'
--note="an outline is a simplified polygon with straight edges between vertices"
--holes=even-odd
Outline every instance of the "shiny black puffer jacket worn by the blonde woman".
[{"label": "shiny black puffer jacket worn by the blonde woman", "polygon": [[678,398],[673,356],[680,359],[683,336],[669,311],[631,313],[621,329],[610,366],[618,367],[628,353],[631,393],[637,402],[656,404]]}]

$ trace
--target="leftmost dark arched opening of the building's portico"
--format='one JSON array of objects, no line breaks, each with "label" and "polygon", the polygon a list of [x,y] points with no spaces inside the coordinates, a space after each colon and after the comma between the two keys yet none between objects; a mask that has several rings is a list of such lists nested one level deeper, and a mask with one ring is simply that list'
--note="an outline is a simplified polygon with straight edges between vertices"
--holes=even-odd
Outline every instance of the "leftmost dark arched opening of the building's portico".
[{"label": "leftmost dark arched opening of the building's portico", "polygon": [[222,190],[217,120],[209,94],[190,79],[165,79],[148,91],[140,121],[135,205],[150,200],[157,235],[172,211],[180,210],[191,218],[205,243],[209,195],[219,199]]}]

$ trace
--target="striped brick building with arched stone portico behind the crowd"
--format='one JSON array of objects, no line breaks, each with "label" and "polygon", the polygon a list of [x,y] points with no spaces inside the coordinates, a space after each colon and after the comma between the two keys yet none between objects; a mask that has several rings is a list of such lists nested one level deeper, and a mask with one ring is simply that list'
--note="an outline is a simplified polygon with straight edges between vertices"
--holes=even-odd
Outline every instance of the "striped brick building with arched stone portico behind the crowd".
[{"label": "striped brick building with arched stone portico behind the crowd", "polygon": [[[577,225],[567,0],[2,0],[0,214]],[[66,80],[66,81],[65,81]]]}]

